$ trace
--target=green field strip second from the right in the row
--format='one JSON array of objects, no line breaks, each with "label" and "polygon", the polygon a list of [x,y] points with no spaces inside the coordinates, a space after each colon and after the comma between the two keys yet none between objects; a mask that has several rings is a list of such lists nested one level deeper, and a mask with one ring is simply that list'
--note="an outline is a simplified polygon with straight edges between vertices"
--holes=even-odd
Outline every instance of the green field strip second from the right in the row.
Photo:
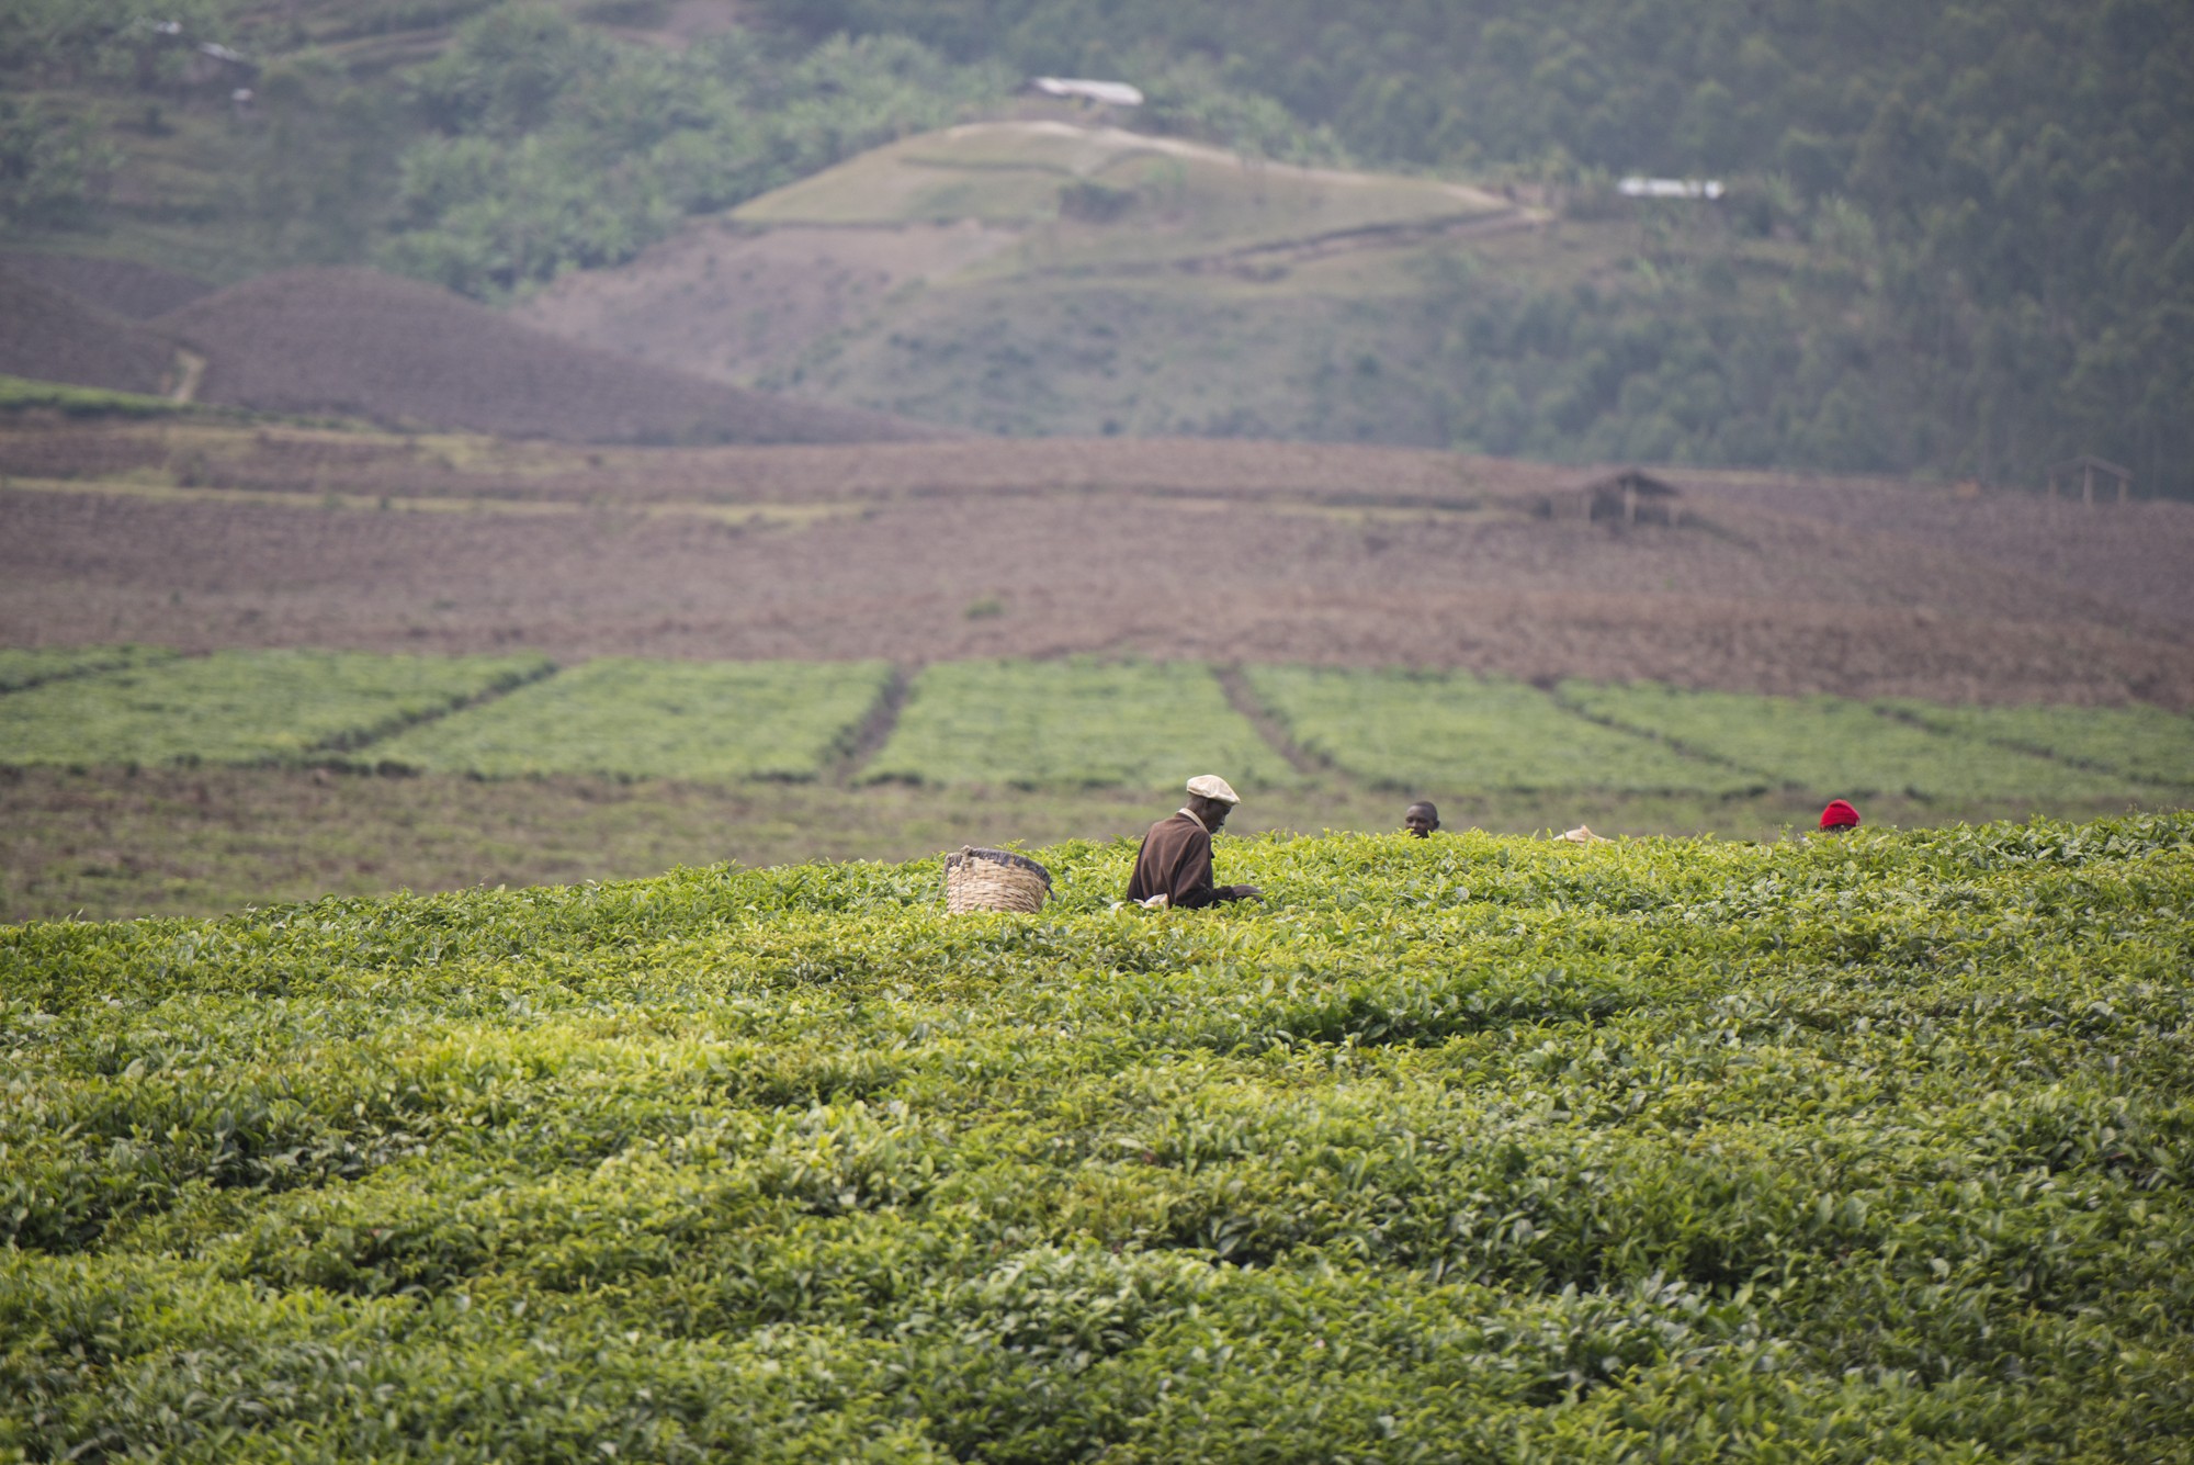
[{"label": "green field strip second from the right in the row", "polygon": [[1654,682],[1562,682],[1588,717],[1663,737],[1821,798],[2133,798],[2133,779],[1924,728],[1850,697],[1764,697]]}]

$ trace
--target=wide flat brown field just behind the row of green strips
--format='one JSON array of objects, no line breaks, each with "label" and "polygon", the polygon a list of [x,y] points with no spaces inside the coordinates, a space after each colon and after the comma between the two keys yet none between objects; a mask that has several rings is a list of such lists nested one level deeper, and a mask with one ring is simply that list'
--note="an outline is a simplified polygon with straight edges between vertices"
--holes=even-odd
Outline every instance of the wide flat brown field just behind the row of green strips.
[{"label": "wide flat brown field just behind the row of green strips", "polygon": [[[176,454],[213,487],[160,498]],[[1946,548],[1935,504],[1902,535],[1887,509],[1850,526],[1696,491],[1670,529],[1540,515],[1575,474],[1404,450],[584,454],[208,425],[18,425],[0,474],[24,478],[0,491],[9,645],[1187,656],[2194,706],[2179,634],[2021,559],[2062,535]],[[230,502],[230,480],[290,491]],[[325,507],[371,485],[386,511]],[[2135,583],[2185,564],[2194,522],[2144,513]]]}]

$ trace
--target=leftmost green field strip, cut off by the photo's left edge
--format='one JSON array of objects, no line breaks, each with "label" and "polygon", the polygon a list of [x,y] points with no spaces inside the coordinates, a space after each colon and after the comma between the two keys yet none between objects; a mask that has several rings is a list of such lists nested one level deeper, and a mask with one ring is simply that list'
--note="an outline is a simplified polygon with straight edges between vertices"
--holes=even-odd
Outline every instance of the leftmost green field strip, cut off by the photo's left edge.
[{"label": "leftmost green field strip, cut off by the photo's left edge", "polygon": [[0,765],[296,763],[546,673],[533,654],[215,651],[0,697]]}]

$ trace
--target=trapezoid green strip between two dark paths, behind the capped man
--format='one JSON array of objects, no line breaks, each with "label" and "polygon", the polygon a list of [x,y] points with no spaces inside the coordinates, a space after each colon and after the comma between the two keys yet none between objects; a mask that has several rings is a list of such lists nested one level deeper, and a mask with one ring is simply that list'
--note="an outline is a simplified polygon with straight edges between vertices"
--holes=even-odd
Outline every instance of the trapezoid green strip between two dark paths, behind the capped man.
[{"label": "trapezoid green strip between two dark paths, behind the capped man", "polygon": [[862,781],[1178,792],[1211,772],[1244,798],[1301,783],[1200,662],[974,660],[915,678]]}]

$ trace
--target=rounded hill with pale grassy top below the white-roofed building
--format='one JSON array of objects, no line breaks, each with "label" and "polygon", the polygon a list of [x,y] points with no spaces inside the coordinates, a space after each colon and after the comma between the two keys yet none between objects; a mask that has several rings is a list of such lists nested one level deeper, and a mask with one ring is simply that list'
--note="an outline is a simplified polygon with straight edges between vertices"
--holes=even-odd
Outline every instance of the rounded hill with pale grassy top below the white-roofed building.
[{"label": "rounded hill with pale grassy top below the white-roofed building", "polygon": [[1503,239],[1534,261],[1547,224],[1452,182],[1005,118],[695,219],[516,316],[722,382],[983,432],[1433,447],[1450,434],[1420,379],[1439,347],[1424,272]]}]

